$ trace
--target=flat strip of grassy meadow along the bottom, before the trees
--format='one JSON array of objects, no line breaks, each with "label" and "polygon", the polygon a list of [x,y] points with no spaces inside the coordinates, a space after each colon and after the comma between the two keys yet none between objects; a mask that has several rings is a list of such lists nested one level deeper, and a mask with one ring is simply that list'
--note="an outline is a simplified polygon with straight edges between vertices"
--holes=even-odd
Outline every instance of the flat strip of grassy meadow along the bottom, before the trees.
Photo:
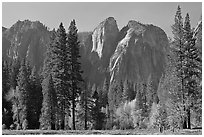
[{"label": "flat strip of grassy meadow along the bottom, before the trees", "polygon": [[3,135],[202,135],[202,129],[179,130],[176,132],[158,130],[2,130]]}]

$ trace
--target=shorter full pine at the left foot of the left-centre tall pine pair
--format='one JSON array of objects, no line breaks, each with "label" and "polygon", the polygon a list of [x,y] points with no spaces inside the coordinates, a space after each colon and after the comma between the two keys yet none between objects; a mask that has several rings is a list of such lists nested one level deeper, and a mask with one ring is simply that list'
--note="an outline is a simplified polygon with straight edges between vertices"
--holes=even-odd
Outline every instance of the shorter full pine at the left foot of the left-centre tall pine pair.
[{"label": "shorter full pine at the left foot of the left-centre tall pine pair", "polygon": [[56,129],[57,95],[52,76],[49,75],[42,83],[43,103],[41,109],[41,129]]}]

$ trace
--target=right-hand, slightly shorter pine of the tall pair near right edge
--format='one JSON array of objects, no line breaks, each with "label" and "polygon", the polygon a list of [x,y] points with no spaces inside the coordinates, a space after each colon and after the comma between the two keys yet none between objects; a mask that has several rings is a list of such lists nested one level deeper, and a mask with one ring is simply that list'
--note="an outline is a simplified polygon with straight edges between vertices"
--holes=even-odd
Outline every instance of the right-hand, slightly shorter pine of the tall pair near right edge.
[{"label": "right-hand, slightly shorter pine of the tall pair near right edge", "polygon": [[191,31],[190,17],[186,14],[184,22],[184,40],[185,40],[185,60],[184,60],[184,89],[186,97],[186,112],[188,120],[188,128],[191,128],[190,110],[192,107],[192,101],[198,94],[198,79],[201,75],[199,71],[199,64],[201,60],[199,58],[198,48],[195,47],[195,39],[192,38],[193,33]]}]

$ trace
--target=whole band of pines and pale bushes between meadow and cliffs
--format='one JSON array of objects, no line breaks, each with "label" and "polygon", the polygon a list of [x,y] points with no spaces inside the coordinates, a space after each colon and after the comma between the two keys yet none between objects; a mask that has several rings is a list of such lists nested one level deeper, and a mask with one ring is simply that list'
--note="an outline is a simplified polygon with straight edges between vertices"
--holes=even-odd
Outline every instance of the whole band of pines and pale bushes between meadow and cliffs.
[{"label": "whole band of pines and pale bushes between meadow and cliffs", "polygon": [[[2,120],[7,129],[175,130],[202,121],[201,51],[178,6],[165,74],[91,85],[82,78],[75,21],[52,31],[42,72],[25,59],[2,64]],[[157,86],[158,85],[158,86]]]}]

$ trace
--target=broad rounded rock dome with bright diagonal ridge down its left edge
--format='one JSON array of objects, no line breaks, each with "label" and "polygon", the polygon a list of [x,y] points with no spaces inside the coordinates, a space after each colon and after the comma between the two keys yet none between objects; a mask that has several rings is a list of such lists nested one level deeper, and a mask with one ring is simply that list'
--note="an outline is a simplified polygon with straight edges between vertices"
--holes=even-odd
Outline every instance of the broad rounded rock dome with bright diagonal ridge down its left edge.
[{"label": "broad rounded rock dome with bright diagonal ridge down its left edge", "polygon": [[147,81],[151,75],[158,85],[164,73],[168,39],[165,32],[153,25],[129,21],[118,36],[118,44],[110,58],[110,81],[138,78]]}]

